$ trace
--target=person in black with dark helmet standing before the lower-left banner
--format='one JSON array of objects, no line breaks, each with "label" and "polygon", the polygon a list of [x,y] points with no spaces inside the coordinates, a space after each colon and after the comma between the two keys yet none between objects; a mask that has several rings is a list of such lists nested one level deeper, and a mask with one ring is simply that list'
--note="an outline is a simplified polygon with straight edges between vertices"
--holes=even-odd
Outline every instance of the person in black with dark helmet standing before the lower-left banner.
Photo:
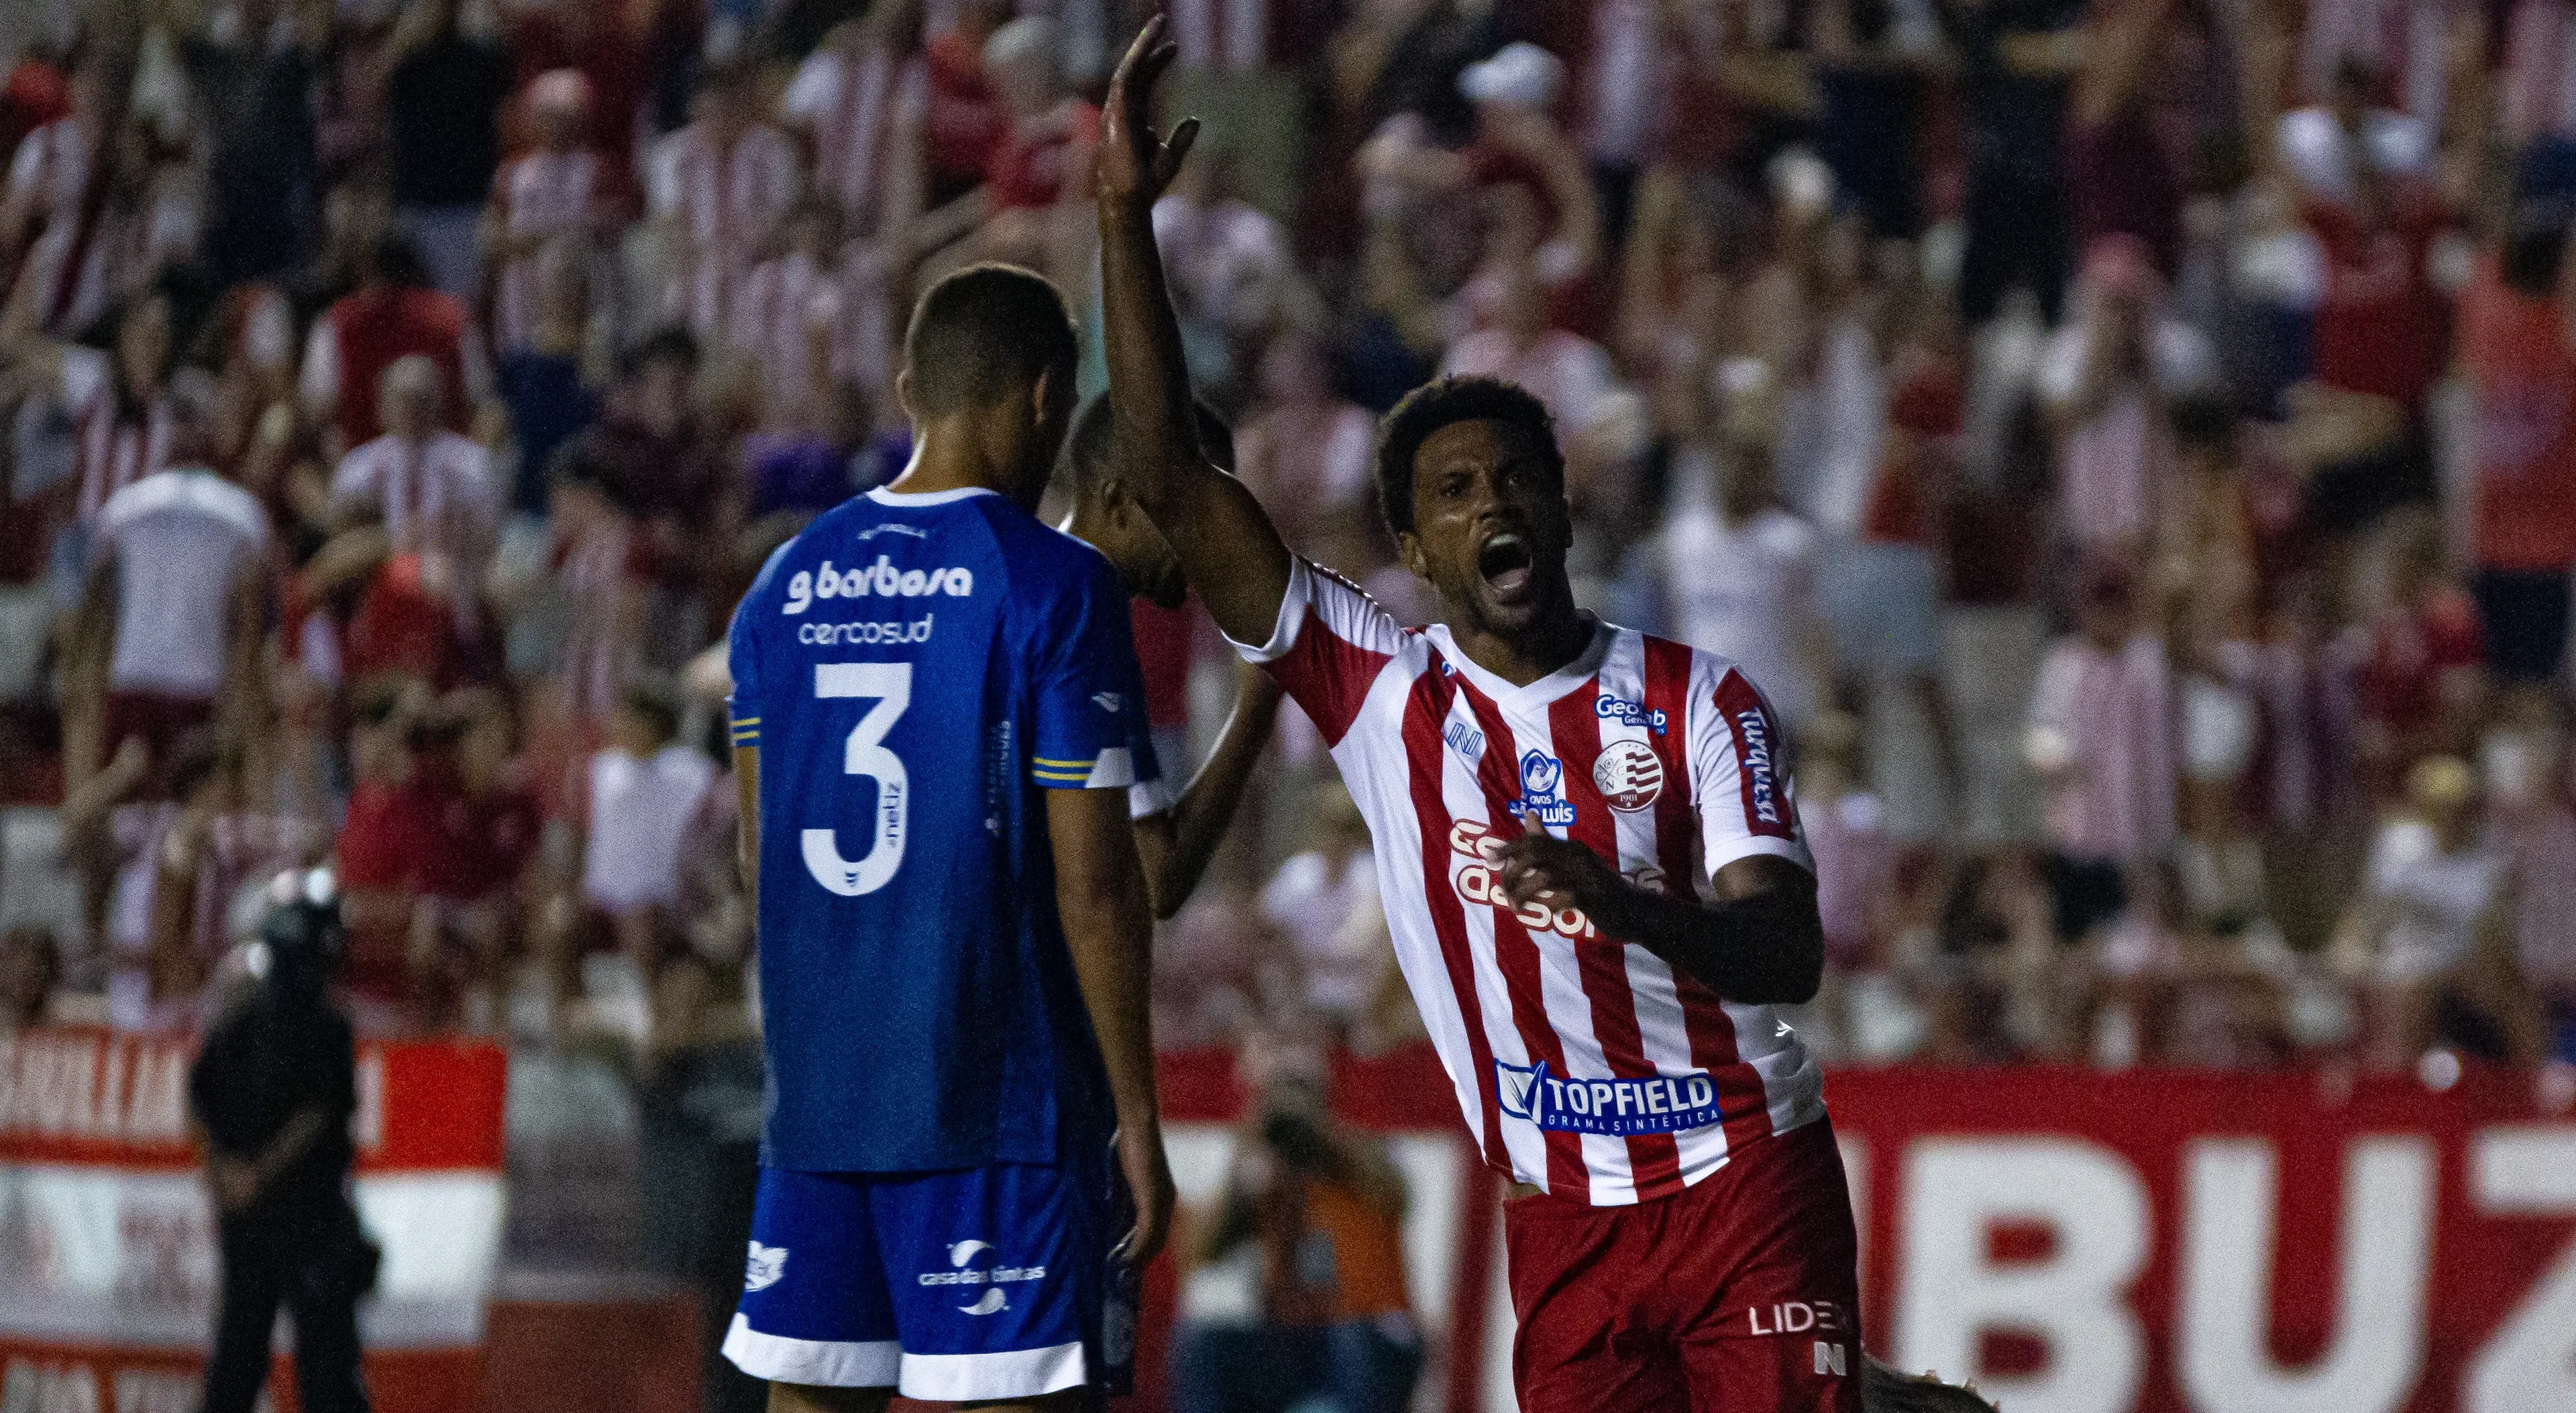
[{"label": "person in black with dark helmet standing before the lower-left banner", "polygon": [[366,1413],[358,1297],[376,1284],[381,1251],[348,1186],[358,1057],[327,990],[343,939],[337,882],[319,869],[281,874],[270,902],[242,951],[245,982],[188,1070],[224,1251],[204,1413],[250,1413],[281,1302],[296,1320],[299,1405]]}]

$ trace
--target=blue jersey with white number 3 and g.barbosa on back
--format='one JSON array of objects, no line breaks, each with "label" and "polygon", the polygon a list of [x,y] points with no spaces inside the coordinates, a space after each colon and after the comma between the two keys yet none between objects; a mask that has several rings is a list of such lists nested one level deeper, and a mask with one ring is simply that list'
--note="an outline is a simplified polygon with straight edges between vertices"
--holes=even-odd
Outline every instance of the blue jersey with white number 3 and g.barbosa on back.
[{"label": "blue jersey with white number 3 and g.barbosa on back", "polygon": [[878,490],[770,557],[732,632],[768,1165],[1051,1163],[1108,1132],[1036,789],[1133,776],[1126,632],[1108,562],[989,492]]}]

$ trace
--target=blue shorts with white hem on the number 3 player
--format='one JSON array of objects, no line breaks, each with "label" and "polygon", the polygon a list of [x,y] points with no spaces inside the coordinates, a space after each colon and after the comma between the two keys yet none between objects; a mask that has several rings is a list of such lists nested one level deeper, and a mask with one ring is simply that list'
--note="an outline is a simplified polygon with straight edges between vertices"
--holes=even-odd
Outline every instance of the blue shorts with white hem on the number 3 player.
[{"label": "blue shorts with white hem on the number 3 player", "polygon": [[1103,1163],[945,1173],[760,1171],[724,1356],[755,1379],[971,1403],[1123,1390],[1133,1284]]}]

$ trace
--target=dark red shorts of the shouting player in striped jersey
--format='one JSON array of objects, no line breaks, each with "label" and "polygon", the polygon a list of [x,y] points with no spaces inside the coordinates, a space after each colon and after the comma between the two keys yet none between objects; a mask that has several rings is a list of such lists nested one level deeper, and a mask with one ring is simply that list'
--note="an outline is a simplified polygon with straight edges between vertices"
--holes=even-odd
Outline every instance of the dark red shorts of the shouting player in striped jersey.
[{"label": "dark red shorts of the shouting player in striped jersey", "polygon": [[1860,1413],[1860,1243],[1826,1122],[1659,1202],[1504,1202],[1502,1235],[1528,1413]]}]

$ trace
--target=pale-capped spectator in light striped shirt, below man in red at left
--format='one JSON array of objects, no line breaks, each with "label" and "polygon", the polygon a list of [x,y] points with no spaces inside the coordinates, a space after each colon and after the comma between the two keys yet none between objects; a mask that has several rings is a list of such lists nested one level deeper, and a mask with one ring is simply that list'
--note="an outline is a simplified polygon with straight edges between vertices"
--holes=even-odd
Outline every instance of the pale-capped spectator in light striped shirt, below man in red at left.
[{"label": "pale-capped spectator in light striped shirt, below man in red at left", "polygon": [[420,554],[443,598],[471,619],[484,565],[500,534],[500,487],[482,443],[438,425],[438,364],[399,358],[384,371],[384,436],[358,446],[332,472],[332,500],[368,500],[394,554]]}]

